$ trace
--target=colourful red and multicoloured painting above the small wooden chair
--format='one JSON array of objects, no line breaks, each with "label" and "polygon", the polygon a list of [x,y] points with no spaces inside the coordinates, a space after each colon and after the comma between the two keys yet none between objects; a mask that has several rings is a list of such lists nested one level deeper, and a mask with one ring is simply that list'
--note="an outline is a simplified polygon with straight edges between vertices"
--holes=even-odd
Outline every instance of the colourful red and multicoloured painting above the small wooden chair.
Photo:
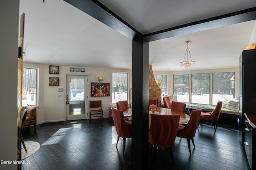
[{"label": "colourful red and multicoloured painting above the small wooden chair", "polygon": [[91,97],[110,96],[110,83],[91,83]]}]

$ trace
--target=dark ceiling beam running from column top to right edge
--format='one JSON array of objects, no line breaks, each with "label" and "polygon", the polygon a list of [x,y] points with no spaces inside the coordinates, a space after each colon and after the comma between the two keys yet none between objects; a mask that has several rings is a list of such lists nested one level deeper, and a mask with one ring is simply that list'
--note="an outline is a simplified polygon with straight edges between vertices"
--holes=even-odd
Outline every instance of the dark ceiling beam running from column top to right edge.
[{"label": "dark ceiling beam running from column top to right edge", "polygon": [[153,32],[144,35],[144,37],[148,38],[149,41],[162,40],[165,38],[229,26],[250,20],[256,20],[256,7]]}]

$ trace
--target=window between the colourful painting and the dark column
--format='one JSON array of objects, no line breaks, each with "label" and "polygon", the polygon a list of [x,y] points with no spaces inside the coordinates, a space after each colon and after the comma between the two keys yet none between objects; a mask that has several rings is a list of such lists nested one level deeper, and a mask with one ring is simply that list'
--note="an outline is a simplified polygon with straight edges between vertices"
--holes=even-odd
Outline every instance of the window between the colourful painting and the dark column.
[{"label": "window between the colourful painting and the dark column", "polygon": [[112,104],[128,101],[128,73],[112,73]]}]

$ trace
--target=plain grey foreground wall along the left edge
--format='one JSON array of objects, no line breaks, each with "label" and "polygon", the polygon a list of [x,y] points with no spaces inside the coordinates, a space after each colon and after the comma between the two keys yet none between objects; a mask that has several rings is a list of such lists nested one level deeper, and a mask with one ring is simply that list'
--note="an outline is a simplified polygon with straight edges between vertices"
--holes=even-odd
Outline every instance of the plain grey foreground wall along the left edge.
[{"label": "plain grey foreground wall along the left edge", "polygon": [[[0,1],[0,160],[17,160],[17,78],[19,0]],[[0,165],[1,170],[17,169],[17,164]]]}]

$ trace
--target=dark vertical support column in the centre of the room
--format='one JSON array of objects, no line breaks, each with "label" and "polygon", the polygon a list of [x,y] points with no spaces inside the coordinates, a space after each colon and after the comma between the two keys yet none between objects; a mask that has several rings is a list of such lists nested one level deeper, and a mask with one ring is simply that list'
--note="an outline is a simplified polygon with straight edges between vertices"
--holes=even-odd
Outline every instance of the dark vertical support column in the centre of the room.
[{"label": "dark vertical support column in the centre of the room", "polygon": [[132,169],[148,169],[149,42],[132,40]]}]

